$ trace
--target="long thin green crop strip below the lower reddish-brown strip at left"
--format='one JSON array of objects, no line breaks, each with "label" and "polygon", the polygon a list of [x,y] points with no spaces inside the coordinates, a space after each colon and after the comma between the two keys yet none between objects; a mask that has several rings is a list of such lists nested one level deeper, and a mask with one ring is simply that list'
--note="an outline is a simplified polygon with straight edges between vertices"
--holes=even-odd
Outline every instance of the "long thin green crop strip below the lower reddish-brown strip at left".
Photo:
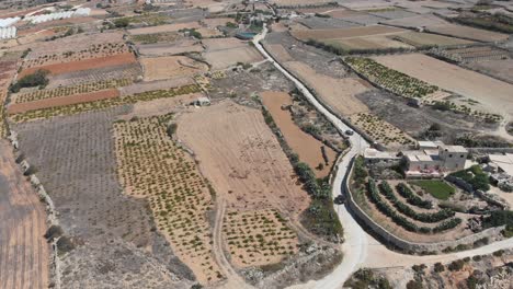
[{"label": "long thin green crop strip below the lower reddish-brown strip at left", "polygon": [[42,118],[50,118],[55,116],[80,114],[89,111],[104,109],[109,107],[119,106],[124,104],[135,104],[137,102],[149,102],[158,99],[174,97],[176,95],[197,93],[200,88],[195,84],[184,85],[168,90],[156,90],[136,93],[127,96],[119,96],[114,99],[106,99],[94,102],[78,103],[66,106],[56,106],[44,109],[30,111],[11,116],[15,123],[24,123],[29,120],[36,120]]}]

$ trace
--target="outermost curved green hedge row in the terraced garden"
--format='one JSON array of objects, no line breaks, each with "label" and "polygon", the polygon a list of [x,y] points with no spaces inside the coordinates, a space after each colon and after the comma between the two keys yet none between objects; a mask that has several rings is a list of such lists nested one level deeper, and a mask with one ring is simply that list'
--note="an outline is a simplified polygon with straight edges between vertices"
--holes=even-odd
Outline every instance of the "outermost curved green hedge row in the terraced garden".
[{"label": "outermost curved green hedge row in the terraced garden", "polygon": [[383,212],[385,216],[392,219],[392,221],[396,224],[402,227],[404,230],[410,231],[410,232],[422,233],[422,234],[440,233],[446,230],[454,229],[461,223],[461,219],[452,218],[449,220],[446,220],[440,223],[438,226],[434,228],[419,227],[415,223],[408,220],[406,217],[397,213],[395,209],[392,209],[390,206],[388,206],[388,204],[384,199],[381,199],[374,180],[368,181],[367,196],[371,199],[371,201],[374,205],[376,205],[377,209],[380,212]]}]

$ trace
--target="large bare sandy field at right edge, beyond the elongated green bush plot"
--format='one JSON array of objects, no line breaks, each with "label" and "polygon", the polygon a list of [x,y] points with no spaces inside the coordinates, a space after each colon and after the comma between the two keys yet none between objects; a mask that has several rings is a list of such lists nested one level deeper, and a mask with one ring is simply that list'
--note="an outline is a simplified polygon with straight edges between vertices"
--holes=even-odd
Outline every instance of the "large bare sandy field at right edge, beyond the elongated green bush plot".
[{"label": "large bare sandy field at right edge, beyond the elongated green bush plot", "polygon": [[410,54],[378,56],[376,61],[444,90],[479,102],[491,113],[513,114],[513,85],[435,58]]}]

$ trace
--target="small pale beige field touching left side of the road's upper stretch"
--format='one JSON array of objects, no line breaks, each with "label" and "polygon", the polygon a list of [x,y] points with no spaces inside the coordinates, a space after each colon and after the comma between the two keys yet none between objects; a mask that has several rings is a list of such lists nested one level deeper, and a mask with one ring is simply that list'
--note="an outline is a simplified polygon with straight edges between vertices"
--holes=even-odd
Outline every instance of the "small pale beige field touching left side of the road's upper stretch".
[{"label": "small pale beige field touching left side of the road's upper stretch", "polygon": [[204,54],[204,57],[212,65],[213,70],[225,69],[237,65],[237,62],[252,63],[263,60],[262,55],[249,45],[246,47],[208,51]]}]

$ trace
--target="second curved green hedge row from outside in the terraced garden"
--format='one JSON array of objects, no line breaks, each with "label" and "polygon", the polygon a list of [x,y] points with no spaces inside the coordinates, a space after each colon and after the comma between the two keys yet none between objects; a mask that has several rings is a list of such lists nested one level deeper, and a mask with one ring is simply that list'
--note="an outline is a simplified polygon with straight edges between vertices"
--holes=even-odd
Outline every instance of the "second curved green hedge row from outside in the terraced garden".
[{"label": "second curved green hedge row from outside in the terraced garden", "polygon": [[442,220],[448,219],[451,217],[454,217],[455,212],[452,209],[442,209],[438,210],[437,212],[429,213],[429,212],[417,212],[413,210],[411,207],[402,203],[400,199],[396,197],[394,194],[392,188],[387,182],[383,182],[379,184],[379,192],[381,192],[385,197],[390,200],[390,203],[396,207],[396,209],[421,222],[428,222],[428,223],[434,223],[434,222],[440,222]]}]

